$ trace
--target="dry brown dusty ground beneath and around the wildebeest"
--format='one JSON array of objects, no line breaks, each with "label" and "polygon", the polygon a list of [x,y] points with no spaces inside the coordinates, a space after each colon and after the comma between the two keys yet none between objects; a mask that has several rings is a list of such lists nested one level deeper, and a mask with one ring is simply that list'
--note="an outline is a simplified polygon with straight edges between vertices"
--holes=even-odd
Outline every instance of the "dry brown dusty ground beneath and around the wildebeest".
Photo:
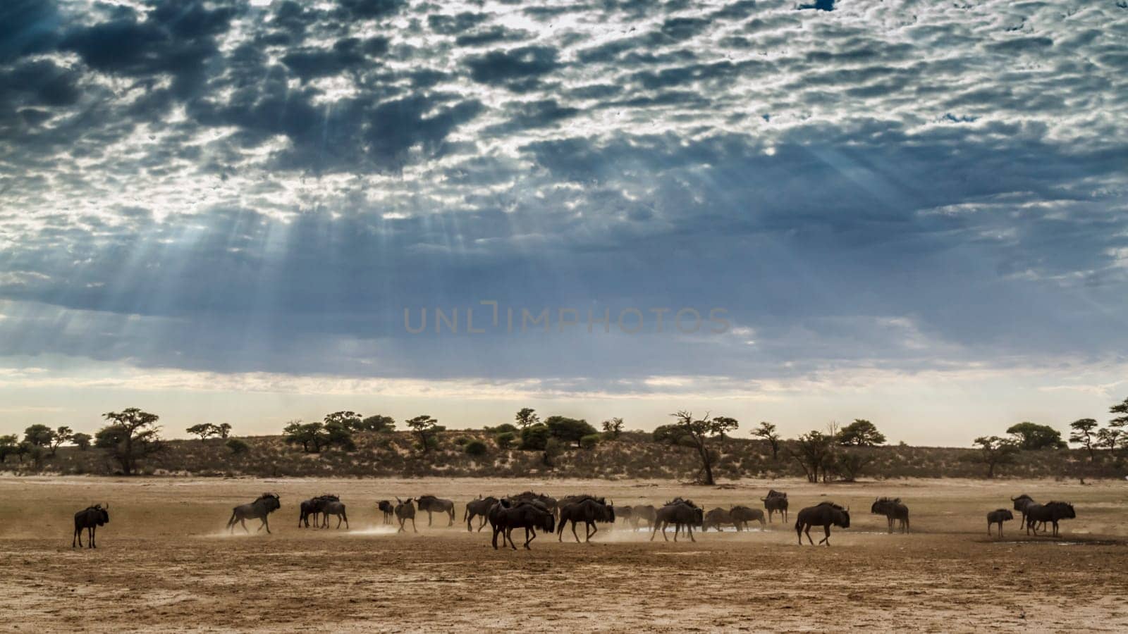
[{"label": "dry brown dusty ground beneath and around the wildebeest", "polygon": [[[532,487],[596,492],[617,504],[686,494],[706,509],[755,502],[768,485],[792,510],[835,500],[853,527],[831,548],[799,547],[778,522],[765,532],[711,532],[651,543],[619,527],[590,546],[541,537],[531,552],[494,552],[435,516],[395,535],[373,501],[434,492],[462,503]],[[282,496],[273,535],[227,536],[235,504]],[[299,529],[297,503],[342,496],[352,530]],[[1028,492],[1066,500],[1078,518],[1063,538],[996,540],[985,513]],[[885,535],[869,513],[900,495],[914,532]],[[73,512],[108,502],[98,549],[71,549]],[[794,519],[794,518],[792,518]],[[252,530],[257,522],[253,522]],[[814,534],[812,531],[812,534]],[[582,532],[581,532],[582,535]],[[818,539],[818,537],[817,537]],[[0,478],[3,631],[1128,631],[1128,484],[909,481],[734,488],[655,482]],[[520,541],[518,543],[520,545]]]}]

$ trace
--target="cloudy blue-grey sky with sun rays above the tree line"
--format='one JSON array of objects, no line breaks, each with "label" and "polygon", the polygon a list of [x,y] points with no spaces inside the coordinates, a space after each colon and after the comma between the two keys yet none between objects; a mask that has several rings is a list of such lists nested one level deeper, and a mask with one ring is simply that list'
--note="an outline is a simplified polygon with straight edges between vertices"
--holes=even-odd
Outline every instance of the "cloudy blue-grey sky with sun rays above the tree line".
[{"label": "cloudy blue-grey sky with sun rays above the tree line", "polygon": [[8,0],[0,433],[1103,421],[1126,43],[1116,0]]}]

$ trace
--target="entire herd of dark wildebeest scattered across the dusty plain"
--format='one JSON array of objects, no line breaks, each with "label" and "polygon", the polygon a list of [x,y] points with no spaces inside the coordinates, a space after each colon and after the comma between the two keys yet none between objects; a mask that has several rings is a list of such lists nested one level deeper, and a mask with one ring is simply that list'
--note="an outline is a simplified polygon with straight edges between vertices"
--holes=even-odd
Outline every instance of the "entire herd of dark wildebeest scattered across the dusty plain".
[{"label": "entire herd of dark wildebeest scattered across the dusty plain", "polygon": [[[605,497],[589,494],[569,495],[557,500],[543,493],[526,491],[504,497],[492,495],[483,497],[479,495],[477,499],[466,503],[462,512],[462,521],[466,522],[466,530],[470,532],[475,531],[475,519],[478,520],[478,531],[488,523],[493,529],[491,544],[495,549],[499,548],[499,537],[501,537],[500,547],[504,548],[509,545],[511,548],[517,549],[517,545],[512,538],[514,529],[525,530],[523,547],[527,549],[530,548],[530,544],[536,539],[538,530],[548,534],[556,532],[557,541],[563,541],[565,527],[569,526],[571,527],[573,538],[576,543],[580,543],[581,539],[576,532],[578,525],[584,527],[582,541],[590,543],[591,538],[599,531],[598,525],[605,523],[614,527],[616,520],[619,519],[623,520],[624,527],[629,526],[633,530],[637,530],[645,522],[645,529],[650,532],[651,541],[654,540],[654,537],[659,532],[662,534],[664,540],[669,540],[667,528],[671,525],[673,526],[675,541],[678,540],[678,536],[682,532],[690,541],[696,541],[694,528],[698,528],[702,532],[707,532],[711,528],[721,531],[725,525],[729,525],[737,531],[743,531],[748,530],[749,522],[756,521],[759,522],[763,530],[768,523],[772,523],[775,513],[779,513],[784,522],[787,521],[788,502],[786,493],[770,490],[767,496],[760,497],[760,501],[767,511],[766,521],[764,511],[740,504],[731,505],[728,509],[715,508],[706,512],[691,500],[684,497],[675,497],[661,507],[654,507],[653,504],[616,505],[613,501],[608,501]],[[1014,511],[1021,513],[1022,525],[1026,529],[1026,535],[1038,535],[1039,530],[1045,532],[1047,530],[1046,525],[1049,523],[1052,527],[1052,536],[1057,537],[1060,535],[1059,522],[1064,519],[1077,517],[1073,504],[1066,502],[1050,501],[1039,504],[1026,494],[1012,497],[1011,501],[1014,504]],[[263,493],[255,501],[231,509],[231,517],[228,519],[226,528],[233,532],[236,525],[239,525],[245,532],[249,534],[246,520],[257,519],[262,521],[257,530],[265,528],[266,532],[271,532],[267,518],[281,507],[281,497],[276,493]],[[95,504],[74,513],[74,535],[71,540],[71,547],[74,547],[76,544],[79,547],[82,546],[82,529],[86,529],[88,534],[87,547],[97,547],[95,544],[95,532],[99,526],[105,526],[109,522],[108,509],[109,504]],[[415,526],[416,509],[428,513],[429,527],[432,525],[433,513],[446,514],[448,527],[453,526],[456,518],[455,502],[452,500],[446,500],[431,494],[407,497],[406,500],[396,497],[395,503],[390,500],[380,500],[376,503],[376,509],[382,513],[385,525],[398,525],[396,532],[407,532],[408,521],[412,525],[412,531],[418,532]],[[326,493],[310,497],[302,501],[298,505],[298,510],[299,528],[310,528],[310,519],[312,519],[312,528],[327,529],[329,528],[329,517],[333,516],[337,518],[334,528],[340,529],[341,525],[344,523],[345,529],[349,529],[349,516],[345,513],[345,504],[337,495]],[[909,531],[909,509],[901,502],[900,497],[879,497],[874,500],[870,511],[873,514],[885,517],[889,532],[893,532],[895,530],[900,530],[901,532]],[[1003,522],[1013,519],[1014,513],[1010,509],[990,511],[987,513],[987,535],[993,535],[992,529],[997,525],[998,530],[996,535],[1001,538],[1003,536]],[[810,531],[811,528],[816,527],[822,527],[825,534],[819,544],[830,546],[830,527],[832,526],[849,528],[849,507],[844,508],[834,502],[826,501],[800,510],[795,520],[795,534],[799,537],[800,546],[803,545],[804,535],[808,543],[812,546],[814,545],[814,539],[811,537]]]}]

